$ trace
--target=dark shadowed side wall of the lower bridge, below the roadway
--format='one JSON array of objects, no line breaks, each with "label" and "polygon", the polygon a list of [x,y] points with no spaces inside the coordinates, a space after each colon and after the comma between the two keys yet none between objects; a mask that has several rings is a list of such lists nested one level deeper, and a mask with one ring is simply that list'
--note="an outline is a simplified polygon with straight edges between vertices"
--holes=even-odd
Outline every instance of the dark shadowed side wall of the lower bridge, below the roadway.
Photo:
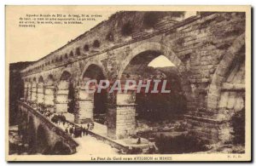
[{"label": "dark shadowed side wall of the lower bridge, below the roadway", "polygon": [[[20,132],[28,153],[73,154],[79,144],[35,108],[19,101]],[[19,128],[20,128],[19,127]]]}]

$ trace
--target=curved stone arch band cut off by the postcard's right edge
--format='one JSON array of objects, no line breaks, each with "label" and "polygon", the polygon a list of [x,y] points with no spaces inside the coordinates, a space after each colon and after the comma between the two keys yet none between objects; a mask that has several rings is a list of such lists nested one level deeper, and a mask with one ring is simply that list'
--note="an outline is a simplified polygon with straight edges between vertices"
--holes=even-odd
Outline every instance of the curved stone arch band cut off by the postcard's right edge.
[{"label": "curved stone arch band cut off by the postcard's right edge", "polygon": [[212,83],[208,90],[208,109],[217,109],[222,83],[224,83],[225,77],[230,70],[230,66],[237,58],[236,53],[238,53],[244,46],[245,33],[242,33],[239,37],[236,37],[230,48],[225,52],[223,59],[219,62],[218,67],[212,76]]}]

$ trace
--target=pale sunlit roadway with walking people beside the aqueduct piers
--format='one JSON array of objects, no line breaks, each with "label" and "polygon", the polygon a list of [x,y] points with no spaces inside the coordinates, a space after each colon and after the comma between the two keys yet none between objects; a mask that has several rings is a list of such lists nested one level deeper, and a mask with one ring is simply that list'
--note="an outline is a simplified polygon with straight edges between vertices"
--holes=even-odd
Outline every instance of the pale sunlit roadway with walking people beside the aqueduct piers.
[{"label": "pale sunlit roadway with walking people beside the aqueduct piers", "polygon": [[[63,125],[63,123],[52,123],[50,118],[46,117],[44,114],[38,112],[36,108],[32,108],[27,103],[20,102],[28,110],[32,112],[35,116],[41,117],[44,123],[48,123],[50,125],[55,126],[55,131],[58,133],[61,132],[62,135],[65,135],[69,140],[73,140],[74,144],[76,144],[76,153],[74,154],[118,154],[118,153],[133,153],[133,152],[147,152],[148,150],[148,140],[142,139],[141,144],[137,144],[137,139],[126,138],[122,140],[113,140],[108,138],[107,136],[107,126],[101,123],[95,123],[94,129],[89,130],[89,135],[84,135],[79,138],[74,138],[71,135],[65,133],[65,129],[67,125],[74,125],[80,127],[81,125],[84,127],[87,126],[87,123],[78,124],[74,123],[74,115],[71,113],[65,113],[65,117],[67,119],[67,123]],[[101,148],[99,148],[101,147]]]}]

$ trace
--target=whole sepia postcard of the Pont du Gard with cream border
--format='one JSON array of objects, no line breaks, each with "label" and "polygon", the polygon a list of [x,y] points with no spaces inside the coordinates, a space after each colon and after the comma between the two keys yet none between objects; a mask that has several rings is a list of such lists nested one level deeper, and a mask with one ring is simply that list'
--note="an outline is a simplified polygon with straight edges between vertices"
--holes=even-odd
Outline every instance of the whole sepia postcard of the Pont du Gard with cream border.
[{"label": "whole sepia postcard of the Pont du Gard with cream border", "polygon": [[12,6],[6,160],[251,160],[250,6]]}]

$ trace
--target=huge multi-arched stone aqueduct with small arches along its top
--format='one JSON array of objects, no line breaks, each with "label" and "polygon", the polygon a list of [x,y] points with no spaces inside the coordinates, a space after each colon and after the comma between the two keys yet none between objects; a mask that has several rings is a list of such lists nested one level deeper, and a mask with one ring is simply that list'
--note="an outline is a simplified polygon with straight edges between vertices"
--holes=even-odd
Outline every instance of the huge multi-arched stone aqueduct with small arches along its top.
[{"label": "huge multi-arched stone aqueduct with small arches along its top", "polygon": [[[146,13],[113,14],[26,67],[21,71],[25,100],[49,106],[54,112],[67,112],[72,83],[74,121],[83,123],[93,119],[94,102],[85,93],[84,77],[125,79],[127,73],[140,72],[138,65],[147,66],[162,54],[177,67],[189,130],[207,140],[230,140],[227,122],[244,107],[245,14],[200,13],[182,21],[166,14],[153,26],[145,26]],[[132,95],[108,94],[108,137],[134,134]]]}]

